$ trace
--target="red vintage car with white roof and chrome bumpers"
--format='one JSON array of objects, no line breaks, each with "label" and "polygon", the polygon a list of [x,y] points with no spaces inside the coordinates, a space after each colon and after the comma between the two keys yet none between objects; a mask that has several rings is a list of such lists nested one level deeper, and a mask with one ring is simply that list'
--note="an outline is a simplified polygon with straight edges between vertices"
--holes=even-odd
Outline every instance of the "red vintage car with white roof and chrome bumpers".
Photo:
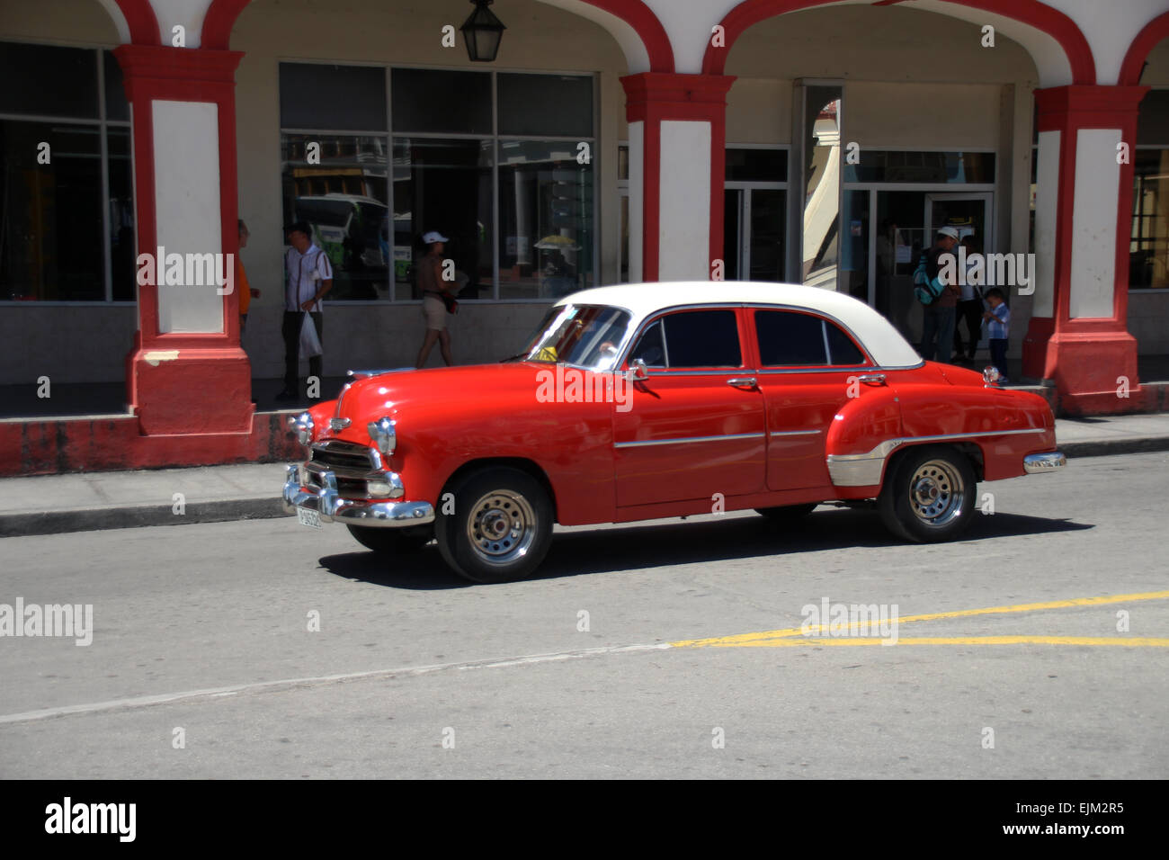
[{"label": "red vintage car with white roof and chrome bumpers", "polygon": [[1043,398],[925,362],[869,305],[811,287],[584,290],[498,364],[351,371],[291,419],[284,505],[387,555],[434,539],[475,582],[527,576],[553,523],[876,500],[907,541],[966,528],[977,481],[1063,468]]}]

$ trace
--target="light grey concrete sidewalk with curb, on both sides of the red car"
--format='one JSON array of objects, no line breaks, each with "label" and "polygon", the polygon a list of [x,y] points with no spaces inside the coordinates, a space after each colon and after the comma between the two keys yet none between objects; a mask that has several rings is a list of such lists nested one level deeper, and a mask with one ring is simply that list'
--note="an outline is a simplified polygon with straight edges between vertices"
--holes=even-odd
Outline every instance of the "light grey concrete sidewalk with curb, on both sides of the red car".
[{"label": "light grey concrete sidewalk with curb, on both sides of the red car", "polygon": [[[1169,450],[1169,413],[1061,418],[1056,439],[1070,459]],[[283,484],[284,463],[6,477],[0,537],[285,516]]]}]

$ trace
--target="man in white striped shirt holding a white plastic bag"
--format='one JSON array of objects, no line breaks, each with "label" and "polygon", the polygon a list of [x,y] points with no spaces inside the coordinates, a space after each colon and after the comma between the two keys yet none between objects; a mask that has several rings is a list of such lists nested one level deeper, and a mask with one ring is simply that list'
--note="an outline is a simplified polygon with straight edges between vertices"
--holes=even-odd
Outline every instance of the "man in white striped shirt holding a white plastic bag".
[{"label": "man in white striped shirt holding a white plastic bag", "polygon": [[[289,248],[284,255],[284,391],[277,400],[296,400],[300,397],[300,326],[305,311],[309,312],[317,337],[325,343],[325,319],[320,300],[333,288],[333,267],[328,255],[312,241],[312,227],[297,221],[288,231]],[[321,357],[309,359],[309,376],[320,379]]]}]

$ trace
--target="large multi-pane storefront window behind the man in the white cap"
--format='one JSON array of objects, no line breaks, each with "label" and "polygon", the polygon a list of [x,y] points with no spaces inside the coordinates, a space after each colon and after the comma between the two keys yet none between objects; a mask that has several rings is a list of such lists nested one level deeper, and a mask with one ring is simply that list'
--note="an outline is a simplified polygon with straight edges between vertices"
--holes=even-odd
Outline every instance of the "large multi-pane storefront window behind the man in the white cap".
[{"label": "large multi-pane storefront window behind the man in the white cap", "polygon": [[[594,83],[282,63],[285,220],[336,221],[314,227],[345,273],[330,298],[421,298],[415,264],[430,231],[450,240],[461,298],[542,300],[592,285]],[[338,133],[346,130],[382,133]],[[361,209],[358,227],[346,206]]]}]

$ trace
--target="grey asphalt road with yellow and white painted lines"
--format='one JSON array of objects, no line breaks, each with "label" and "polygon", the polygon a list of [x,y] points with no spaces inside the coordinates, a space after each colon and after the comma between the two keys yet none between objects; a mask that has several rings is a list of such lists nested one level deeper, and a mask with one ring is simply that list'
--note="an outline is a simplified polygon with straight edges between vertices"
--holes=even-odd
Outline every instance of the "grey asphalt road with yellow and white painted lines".
[{"label": "grey asphalt road with yellow and white painted lines", "polygon": [[[1163,778],[1167,479],[982,484],[945,545],[828,507],[563,530],[493,586],[295,518],[6,538],[0,604],[94,631],[0,638],[0,777]],[[802,635],[825,599],[898,644]]]}]

